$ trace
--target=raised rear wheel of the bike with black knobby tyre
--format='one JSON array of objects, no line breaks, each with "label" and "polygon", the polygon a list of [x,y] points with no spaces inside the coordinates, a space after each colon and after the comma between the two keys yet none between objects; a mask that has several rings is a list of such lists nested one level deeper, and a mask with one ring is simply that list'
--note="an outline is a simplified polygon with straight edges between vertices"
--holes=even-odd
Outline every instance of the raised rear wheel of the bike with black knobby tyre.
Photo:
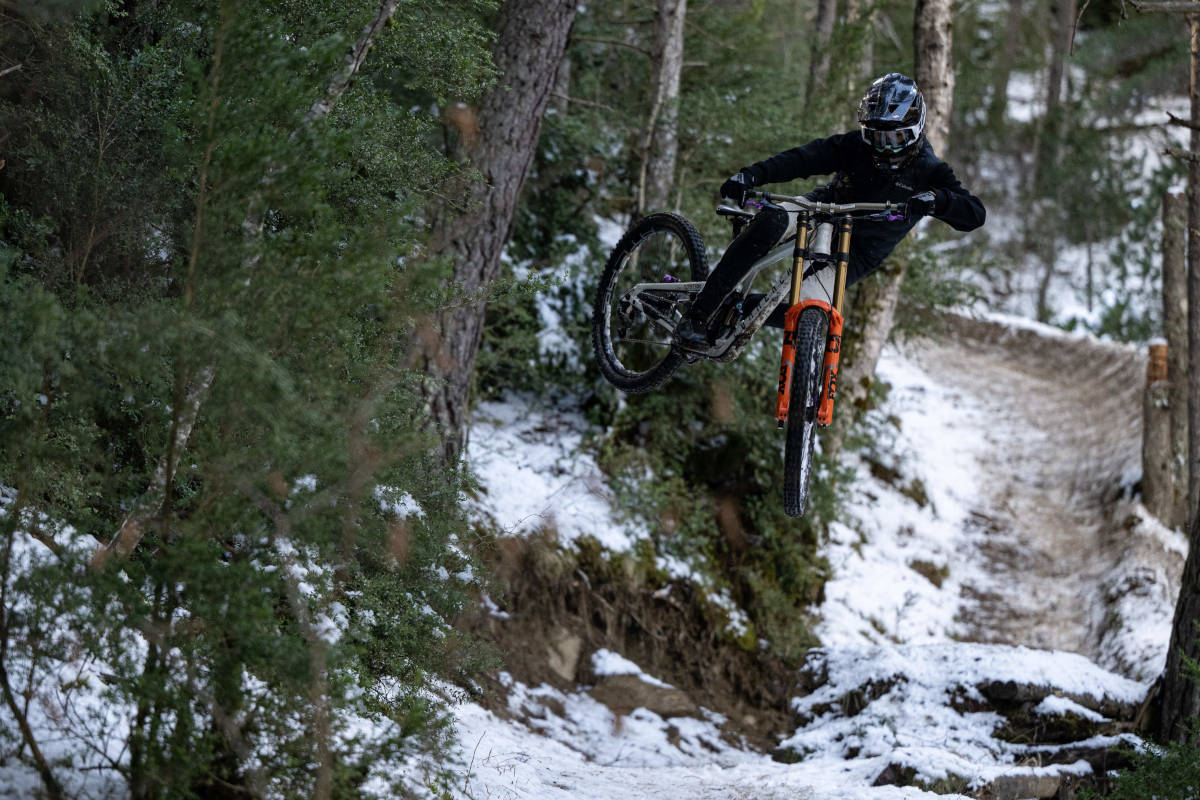
[{"label": "raised rear wheel of the bike with black knobby tyre", "polygon": [[658,389],[683,361],[672,347],[690,291],[634,291],[642,283],[704,281],[704,242],[676,213],[652,213],[622,236],[605,265],[592,313],[600,372],[625,392]]}]

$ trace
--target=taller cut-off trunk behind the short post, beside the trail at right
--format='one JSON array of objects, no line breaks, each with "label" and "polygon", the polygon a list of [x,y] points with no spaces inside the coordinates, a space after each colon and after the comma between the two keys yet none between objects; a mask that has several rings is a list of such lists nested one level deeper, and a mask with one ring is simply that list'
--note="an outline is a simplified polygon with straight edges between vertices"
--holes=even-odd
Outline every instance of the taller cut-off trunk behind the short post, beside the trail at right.
[{"label": "taller cut-off trunk behind the short post, beside the trail at right", "polygon": [[1182,194],[1163,197],[1163,335],[1166,337],[1171,416],[1171,512],[1168,525],[1188,525],[1188,273]]}]

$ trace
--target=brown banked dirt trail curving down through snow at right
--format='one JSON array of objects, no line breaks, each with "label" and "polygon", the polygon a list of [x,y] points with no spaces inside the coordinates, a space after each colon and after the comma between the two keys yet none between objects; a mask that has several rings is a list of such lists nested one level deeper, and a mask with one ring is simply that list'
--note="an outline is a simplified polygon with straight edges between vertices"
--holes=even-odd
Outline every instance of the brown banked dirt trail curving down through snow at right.
[{"label": "brown banked dirt trail curving down through snow at right", "polygon": [[964,591],[967,638],[1097,660],[1102,581],[1122,558],[1118,509],[1141,452],[1145,357],[1133,348],[952,318],[948,336],[905,348],[992,421],[979,469],[992,581]]}]

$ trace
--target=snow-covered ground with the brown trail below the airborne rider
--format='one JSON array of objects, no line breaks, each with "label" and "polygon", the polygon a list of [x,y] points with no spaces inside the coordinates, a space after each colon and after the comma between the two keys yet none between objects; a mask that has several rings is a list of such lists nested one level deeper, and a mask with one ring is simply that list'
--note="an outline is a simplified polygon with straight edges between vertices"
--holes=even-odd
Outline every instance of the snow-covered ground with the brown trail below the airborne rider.
[{"label": "snow-covered ground with the brown trail below the airborne rider", "polygon": [[[1046,374],[1022,383],[1014,375],[1028,361],[1031,341],[1045,343]],[[1081,380],[1063,378],[1069,363],[1098,375],[1088,391],[1102,396],[1080,396]],[[1030,766],[1055,759],[998,738],[1004,721],[972,710],[970,700],[989,686],[1014,681],[1036,687],[1034,699],[1042,698],[1036,714],[1103,724],[1106,711],[1135,706],[1146,679],[1157,673],[1183,537],[1146,521],[1128,497],[1140,441],[1140,402],[1128,402],[1140,383],[1129,375],[1141,368],[1133,351],[1014,320],[964,324],[949,338],[889,348],[880,367],[892,384],[876,420],[880,438],[871,452],[847,461],[858,481],[846,519],[826,545],[834,577],[824,602],[812,609],[824,649],[812,654],[810,669],[824,682],[811,693],[798,687],[797,727],[780,742],[803,760],[779,763],[731,744],[710,711],[701,718],[664,720],[646,709],[622,715],[593,699],[587,686],[563,692],[505,676],[510,693],[503,718],[474,704],[458,709],[456,758],[470,774],[464,796],[893,798],[926,793],[872,786],[886,769],[907,770],[942,792],[973,790],[1006,777],[1090,772],[1084,760]],[[1030,411],[1022,398],[1031,391],[1052,395],[1057,411],[1045,405]],[[1055,413],[1080,403],[1087,403],[1091,417],[1064,444],[1058,434],[1073,417]],[[1020,413],[998,413],[1006,408]],[[577,427],[564,437],[521,399],[484,413],[469,453],[488,489],[481,513],[517,531],[536,509],[536,516],[554,518],[568,546],[582,533],[614,549],[628,549],[640,537],[636,529],[614,525],[613,513],[602,509],[602,476],[584,453],[571,451],[582,441]],[[512,437],[521,439],[522,453],[544,455],[508,459],[493,471],[488,465]],[[1021,457],[997,458],[997,449],[1010,440],[1019,440]],[[552,452],[558,455],[547,459]],[[1022,492],[1040,483],[1022,476],[1036,468],[1063,479],[1064,459],[1078,480],[1066,480],[1061,497],[1038,498],[1058,506],[1042,515],[1045,524],[1014,512]],[[556,465],[539,467],[548,463]],[[514,485],[522,487],[520,500],[504,488]],[[600,505],[578,511],[590,503]],[[998,528],[996,518],[1008,528]],[[1126,525],[1127,519],[1134,523]],[[1117,524],[1127,539],[1114,543]],[[1092,536],[1094,552],[1084,555],[1094,558],[1076,581],[1060,581],[1061,596],[1036,594],[1050,579],[1045,570],[1024,565],[1022,583],[1015,569],[1021,565],[1004,564],[994,552],[997,542],[1012,545],[1015,536],[1049,561],[1055,555],[1049,548],[1063,535],[1074,549],[1080,549],[1079,536]],[[1121,591],[1130,575],[1140,583]],[[1007,597],[997,600],[997,593]],[[1081,600],[1064,602],[1067,596]],[[992,625],[1006,607],[1016,622]],[[1139,624],[1098,626],[1096,618],[1111,619],[1106,610],[1112,608]],[[1032,625],[1034,613],[1044,625]],[[1020,646],[1027,644],[1042,649]],[[798,676],[798,684],[804,680]],[[846,697],[862,702],[839,704]]]}]

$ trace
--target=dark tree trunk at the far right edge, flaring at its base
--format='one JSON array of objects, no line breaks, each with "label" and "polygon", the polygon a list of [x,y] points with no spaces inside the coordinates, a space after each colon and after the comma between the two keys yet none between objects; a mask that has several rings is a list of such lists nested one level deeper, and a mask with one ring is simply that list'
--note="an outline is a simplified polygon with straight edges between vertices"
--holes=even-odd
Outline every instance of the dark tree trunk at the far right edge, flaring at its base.
[{"label": "dark tree trunk at the far right edge, flaring at its base", "polygon": [[[1198,5],[1200,7],[1200,5]],[[1192,151],[1200,150],[1200,16],[1188,18],[1192,29]],[[1200,660],[1200,163],[1188,168],[1188,507],[1190,547],[1183,564],[1180,600],[1175,606],[1171,644],[1163,675],[1158,734],[1163,740],[1184,741],[1187,726],[1200,716],[1200,686],[1188,675],[1184,660]]]}]

